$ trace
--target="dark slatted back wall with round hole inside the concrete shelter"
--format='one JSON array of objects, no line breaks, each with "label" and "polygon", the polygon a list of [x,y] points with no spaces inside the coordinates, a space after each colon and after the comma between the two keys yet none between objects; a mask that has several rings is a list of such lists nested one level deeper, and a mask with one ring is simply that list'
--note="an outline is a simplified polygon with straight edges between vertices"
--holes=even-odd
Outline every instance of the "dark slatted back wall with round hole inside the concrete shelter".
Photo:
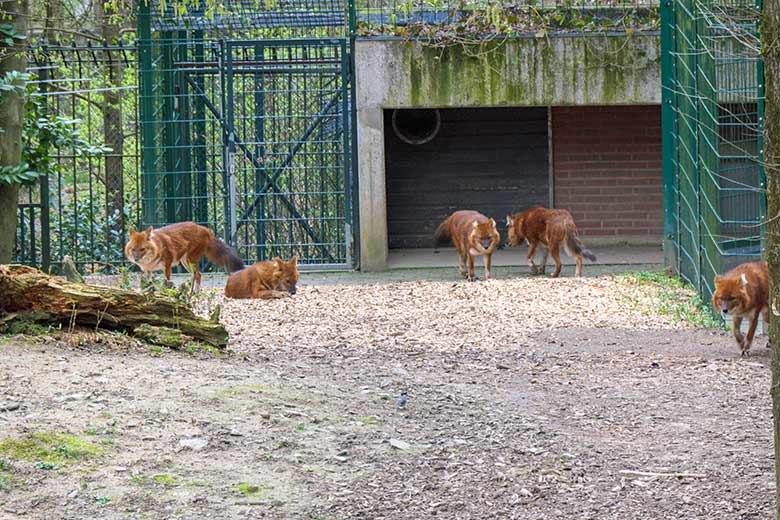
[{"label": "dark slatted back wall with round hole inside the concrete shelter", "polygon": [[459,209],[500,225],[548,205],[547,127],[546,107],[386,110],[390,248],[433,247],[436,226]]}]

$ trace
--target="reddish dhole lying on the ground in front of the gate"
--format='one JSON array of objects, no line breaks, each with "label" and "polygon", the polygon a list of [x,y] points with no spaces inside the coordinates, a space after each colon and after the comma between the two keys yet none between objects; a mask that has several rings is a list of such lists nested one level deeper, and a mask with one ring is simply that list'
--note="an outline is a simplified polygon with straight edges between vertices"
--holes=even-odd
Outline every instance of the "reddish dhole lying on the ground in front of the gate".
[{"label": "reddish dhole lying on the ground in front of the gate", "polygon": [[225,286],[228,298],[282,298],[295,294],[298,283],[298,257],[289,262],[278,256],[233,273]]}]

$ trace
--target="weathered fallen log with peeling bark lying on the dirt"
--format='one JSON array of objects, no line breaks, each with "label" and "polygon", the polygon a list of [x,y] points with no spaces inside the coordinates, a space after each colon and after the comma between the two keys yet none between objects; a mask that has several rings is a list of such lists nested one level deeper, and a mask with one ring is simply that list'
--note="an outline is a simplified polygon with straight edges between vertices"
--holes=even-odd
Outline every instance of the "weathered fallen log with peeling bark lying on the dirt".
[{"label": "weathered fallen log with peeling bark lying on the dirt", "polygon": [[68,282],[26,265],[0,265],[0,313],[129,333],[141,325],[168,327],[219,348],[228,340],[219,322],[198,318],[172,298]]}]

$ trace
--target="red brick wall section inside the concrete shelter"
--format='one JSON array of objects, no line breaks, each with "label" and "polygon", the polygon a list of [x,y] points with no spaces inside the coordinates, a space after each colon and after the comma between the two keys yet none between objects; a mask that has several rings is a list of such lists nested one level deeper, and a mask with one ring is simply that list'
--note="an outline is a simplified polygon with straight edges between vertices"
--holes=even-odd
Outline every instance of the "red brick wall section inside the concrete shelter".
[{"label": "red brick wall section inside the concrete shelter", "polygon": [[555,207],[571,211],[580,234],[663,234],[661,107],[554,107]]}]

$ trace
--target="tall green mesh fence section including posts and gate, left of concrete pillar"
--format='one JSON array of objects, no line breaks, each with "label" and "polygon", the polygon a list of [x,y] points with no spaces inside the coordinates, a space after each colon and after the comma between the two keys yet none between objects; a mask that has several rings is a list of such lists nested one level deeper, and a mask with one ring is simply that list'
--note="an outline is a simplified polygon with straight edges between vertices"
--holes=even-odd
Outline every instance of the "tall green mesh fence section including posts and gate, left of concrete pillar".
[{"label": "tall green mesh fence section including posts and gate, left of concrete pillar", "polygon": [[350,10],[294,3],[141,6],[142,220],[207,225],[247,262],[354,267]]}]

